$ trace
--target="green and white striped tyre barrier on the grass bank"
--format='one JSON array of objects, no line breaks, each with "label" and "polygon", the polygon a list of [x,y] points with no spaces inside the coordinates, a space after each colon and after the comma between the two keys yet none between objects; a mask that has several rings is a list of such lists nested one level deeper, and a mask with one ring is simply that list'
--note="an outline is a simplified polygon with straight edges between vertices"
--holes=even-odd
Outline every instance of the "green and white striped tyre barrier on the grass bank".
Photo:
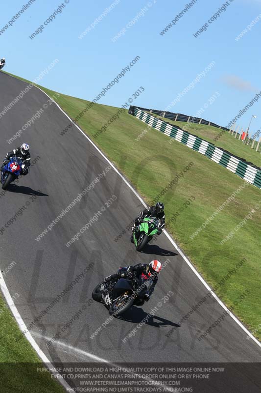
[{"label": "green and white striped tyre barrier on the grass bank", "polygon": [[231,153],[216,147],[213,143],[207,142],[206,140],[196,137],[181,128],[166,123],[149,113],[141,111],[139,108],[134,107],[133,114],[152,128],[155,128],[170,138],[185,144],[190,147],[190,149],[198,151],[215,163],[222,165],[224,168],[227,168],[233,173],[236,173],[248,183],[261,188],[261,170],[253,164],[247,164],[245,161],[240,160]]}]

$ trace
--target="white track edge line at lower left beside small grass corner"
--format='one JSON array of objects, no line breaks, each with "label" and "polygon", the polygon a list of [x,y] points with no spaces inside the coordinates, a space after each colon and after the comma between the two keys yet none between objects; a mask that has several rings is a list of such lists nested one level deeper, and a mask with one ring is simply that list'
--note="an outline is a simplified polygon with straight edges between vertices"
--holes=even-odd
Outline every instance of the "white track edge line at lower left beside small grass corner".
[{"label": "white track edge line at lower left beside small grass corner", "polygon": [[[2,294],[6,300],[6,303],[9,307],[9,309],[12,311],[12,314],[14,315],[19,329],[21,330],[21,332],[24,334],[24,337],[27,338],[27,340],[29,341],[29,343],[31,344],[31,346],[33,347],[33,349],[37,352],[37,355],[39,356],[39,358],[42,360],[42,362],[49,367],[50,364],[52,365],[52,363],[49,361],[49,359],[47,358],[47,356],[44,354],[44,352],[42,351],[42,349],[39,347],[39,345],[36,343],[35,339],[32,337],[31,333],[27,330],[26,325],[24,323],[23,318],[21,317],[18,309],[16,308],[16,305],[13,302],[13,299],[10,295],[10,292],[7,288],[7,285],[4,281],[2,272],[0,271],[0,288],[2,291]],[[53,368],[55,368],[53,366]],[[64,388],[67,389],[71,389],[70,385],[61,377],[60,373],[57,371],[52,371],[51,372],[53,375],[56,376],[56,380],[59,380],[59,382],[63,385]]]}]

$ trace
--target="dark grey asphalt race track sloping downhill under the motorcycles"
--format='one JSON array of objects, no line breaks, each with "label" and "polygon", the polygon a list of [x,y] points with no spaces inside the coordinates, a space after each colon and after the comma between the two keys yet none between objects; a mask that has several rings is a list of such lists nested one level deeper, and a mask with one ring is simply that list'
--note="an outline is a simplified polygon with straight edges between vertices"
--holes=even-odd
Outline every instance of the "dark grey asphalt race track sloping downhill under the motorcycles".
[{"label": "dark grey asphalt race track sloping downhill under the motorcycles", "polygon": [[[0,86],[1,112],[26,83],[0,73]],[[40,108],[44,108],[44,104],[47,108],[40,118],[9,144],[7,140]],[[213,297],[178,326],[182,317],[208,291],[164,234],[143,253],[137,253],[130,243],[130,232],[118,242],[114,241],[143,206],[113,169],[107,169],[106,176],[51,231],[41,240],[35,240],[109,165],[76,127],[64,136],[59,134],[68,123],[65,114],[55,104],[49,105],[48,97],[36,87],[0,118],[1,158],[23,142],[30,144],[32,161],[38,157],[28,176],[21,176],[19,183],[0,193],[1,227],[4,228],[0,235],[1,271],[5,272],[6,284],[26,326],[78,276],[78,283],[71,291],[31,329],[32,336],[49,360],[260,362],[261,348],[230,316],[224,317],[209,335],[198,340],[214,321],[224,315],[224,309]],[[113,195],[117,200],[107,207],[106,202]],[[67,247],[65,244],[101,208],[104,211],[98,219],[78,241]],[[11,223],[9,220],[16,213],[16,220]],[[142,308],[133,307],[126,315],[114,318],[92,339],[91,335],[109,317],[104,306],[89,301],[94,286],[119,266],[148,263],[155,258],[161,262],[169,259],[169,262],[160,274],[150,301]],[[12,261],[15,265],[10,268]],[[81,278],[87,266],[89,270]],[[164,303],[163,298],[169,291],[173,295]],[[158,308],[155,316],[147,318],[137,333],[123,342],[123,338],[155,307]],[[58,343],[47,345],[70,320],[71,326],[60,336]]]}]

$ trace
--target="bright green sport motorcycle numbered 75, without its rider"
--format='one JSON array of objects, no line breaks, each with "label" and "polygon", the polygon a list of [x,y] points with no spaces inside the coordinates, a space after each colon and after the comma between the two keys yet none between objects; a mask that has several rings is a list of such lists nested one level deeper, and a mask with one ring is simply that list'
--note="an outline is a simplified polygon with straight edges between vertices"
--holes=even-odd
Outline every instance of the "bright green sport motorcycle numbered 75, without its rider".
[{"label": "bright green sport motorcycle numbered 75, without its rider", "polygon": [[159,232],[159,220],[155,217],[146,217],[133,231],[133,241],[136,250],[140,251]]}]

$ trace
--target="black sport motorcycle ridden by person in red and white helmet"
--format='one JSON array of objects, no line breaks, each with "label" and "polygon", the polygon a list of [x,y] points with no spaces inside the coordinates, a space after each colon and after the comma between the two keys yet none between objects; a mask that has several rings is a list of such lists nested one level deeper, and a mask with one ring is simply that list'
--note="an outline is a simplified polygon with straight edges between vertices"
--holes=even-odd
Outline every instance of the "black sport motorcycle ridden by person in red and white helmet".
[{"label": "black sport motorcycle ridden by person in red and white helmet", "polygon": [[149,291],[152,284],[151,279],[139,280],[135,276],[131,279],[103,281],[95,287],[92,297],[96,302],[104,304],[110,315],[118,316],[132,305],[142,306],[144,293]]}]

